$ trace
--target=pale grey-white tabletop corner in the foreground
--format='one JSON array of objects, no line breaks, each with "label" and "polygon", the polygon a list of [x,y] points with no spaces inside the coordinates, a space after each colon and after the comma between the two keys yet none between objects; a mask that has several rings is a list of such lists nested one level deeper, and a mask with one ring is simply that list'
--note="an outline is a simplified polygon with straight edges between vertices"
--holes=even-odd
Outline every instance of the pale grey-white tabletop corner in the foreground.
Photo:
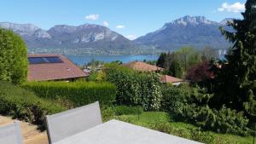
[{"label": "pale grey-white tabletop corner in the foreground", "polygon": [[97,125],[77,135],[67,137],[55,144],[198,144],[174,135],[149,130],[118,120]]}]

